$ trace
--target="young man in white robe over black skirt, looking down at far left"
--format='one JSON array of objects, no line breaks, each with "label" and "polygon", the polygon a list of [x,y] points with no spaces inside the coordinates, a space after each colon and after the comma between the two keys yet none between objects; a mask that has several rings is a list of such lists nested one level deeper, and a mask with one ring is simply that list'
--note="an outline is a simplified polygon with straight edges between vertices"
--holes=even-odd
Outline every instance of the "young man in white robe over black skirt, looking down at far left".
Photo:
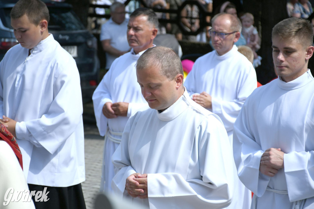
[{"label": "young man in white robe over black skirt, looking down at far left", "polygon": [[80,78],[73,57],[48,33],[48,21],[41,1],[20,0],[12,8],[19,44],[0,62],[0,121],[17,138],[30,190],[56,191],[48,194],[50,201],[34,202],[36,208],[59,208],[64,202],[85,208]]}]

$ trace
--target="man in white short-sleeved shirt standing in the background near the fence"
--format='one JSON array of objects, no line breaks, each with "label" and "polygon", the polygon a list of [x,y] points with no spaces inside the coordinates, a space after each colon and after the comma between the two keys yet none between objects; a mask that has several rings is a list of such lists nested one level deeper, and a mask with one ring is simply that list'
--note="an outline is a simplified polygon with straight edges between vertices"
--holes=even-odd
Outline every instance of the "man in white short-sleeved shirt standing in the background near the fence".
[{"label": "man in white short-sleeved shirt standing in the background near the fence", "polygon": [[130,51],[127,42],[127,23],[125,18],[125,5],[115,2],[110,6],[111,18],[102,25],[100,41],[106,52],[106,69],[119,56]]}]

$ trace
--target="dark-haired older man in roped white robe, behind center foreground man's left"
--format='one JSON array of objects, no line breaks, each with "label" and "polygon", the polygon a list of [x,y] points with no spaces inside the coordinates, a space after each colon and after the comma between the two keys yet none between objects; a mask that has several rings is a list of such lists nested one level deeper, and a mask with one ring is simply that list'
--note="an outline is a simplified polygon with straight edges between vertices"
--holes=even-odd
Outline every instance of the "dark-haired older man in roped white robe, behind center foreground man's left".
[{"label": "dark-haired older man in roped white robe, behind center foreground man's left", "polygon": [[128,118],[148,105],[136,82],[135,64],[157,35],[158,18],[148,8],[138,8],[127,25],[127,40],[132,50],[118,57],[93,94],[97,127],[105,137],[100,191],[110,192],[114,176],[111,156],[118,147]]}]

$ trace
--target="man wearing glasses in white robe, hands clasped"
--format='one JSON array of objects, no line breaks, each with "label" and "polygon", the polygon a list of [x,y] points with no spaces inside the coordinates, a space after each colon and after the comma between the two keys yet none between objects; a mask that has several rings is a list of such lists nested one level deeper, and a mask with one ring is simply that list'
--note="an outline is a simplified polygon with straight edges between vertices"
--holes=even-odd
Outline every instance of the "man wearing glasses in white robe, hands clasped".
[{"label": "man wearing glasses in white robe, hands clasped", "polygon": [[[246,98],[257,87],[252,63],[234,45],[241,28],[238,18],[226,13],[215,15],[209,30],[215,50],[196,60],[184,83],[195,102],[221,118],[231,146],[233,124]],[[234,169],[236,172],[235,164]],[[228,208],[250,206],[251,192],[235,176],[234,198]]]}]

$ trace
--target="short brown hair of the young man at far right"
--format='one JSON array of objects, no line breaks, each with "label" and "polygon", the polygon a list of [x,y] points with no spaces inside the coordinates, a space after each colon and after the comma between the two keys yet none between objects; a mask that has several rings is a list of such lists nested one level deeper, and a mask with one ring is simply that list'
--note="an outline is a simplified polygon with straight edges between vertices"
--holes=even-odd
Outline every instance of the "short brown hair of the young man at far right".
[{"label": "short brown hair of the young man at far right", "polygon": [[279,36],[283,40],[296,40],[304,48],[313,44],[313,25],[300,18],[288,18],[273,27],[272,39]]}]

